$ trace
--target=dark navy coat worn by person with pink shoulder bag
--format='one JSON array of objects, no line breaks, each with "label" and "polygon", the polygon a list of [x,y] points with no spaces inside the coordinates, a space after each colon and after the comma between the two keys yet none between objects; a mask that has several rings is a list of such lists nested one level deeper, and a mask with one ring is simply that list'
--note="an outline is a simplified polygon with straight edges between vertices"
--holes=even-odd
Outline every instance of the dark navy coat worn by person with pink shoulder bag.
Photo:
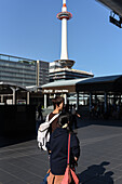
[{"label": "dark navy coat worn by person with pink shoulder bag", "polygon": [[[51,150],[50,167],[51,172],[55,175],[65,174],[67,167],[67,154],[68,154],[68,131],[63,128],[57,128],[50,137],[48,143],[48,149]],[[70,143],[70,163],[73,162],[73,158],[79,158],[80,146],[78,137],[71,133]]]}]

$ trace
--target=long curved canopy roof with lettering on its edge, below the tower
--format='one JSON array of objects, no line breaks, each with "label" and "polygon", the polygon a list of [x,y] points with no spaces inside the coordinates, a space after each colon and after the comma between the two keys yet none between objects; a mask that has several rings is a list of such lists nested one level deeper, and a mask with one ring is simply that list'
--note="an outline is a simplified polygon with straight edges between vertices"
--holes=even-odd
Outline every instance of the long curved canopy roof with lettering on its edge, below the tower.
[{"label": "long curved canopy roof with lettering on its edge, below the tower", "polygon": [[[42,86],[44,93],[56,92],[122,92],[122,75],[58,80]],[[49,90],[49,91],[48,91]],[[63,90],[63,91],[62,91]]]}]

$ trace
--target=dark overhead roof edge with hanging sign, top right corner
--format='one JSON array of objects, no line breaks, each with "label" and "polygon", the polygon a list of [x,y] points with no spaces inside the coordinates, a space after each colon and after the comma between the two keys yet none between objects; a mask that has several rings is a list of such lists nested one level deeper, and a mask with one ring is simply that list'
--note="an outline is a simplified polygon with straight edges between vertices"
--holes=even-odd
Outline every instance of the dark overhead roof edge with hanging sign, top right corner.
[{"label": "dark overhead roof edge with hanging sign, top right corner", "polygon": [[122,28],[122,0],[96,0],[111,10],[110,23]]}]

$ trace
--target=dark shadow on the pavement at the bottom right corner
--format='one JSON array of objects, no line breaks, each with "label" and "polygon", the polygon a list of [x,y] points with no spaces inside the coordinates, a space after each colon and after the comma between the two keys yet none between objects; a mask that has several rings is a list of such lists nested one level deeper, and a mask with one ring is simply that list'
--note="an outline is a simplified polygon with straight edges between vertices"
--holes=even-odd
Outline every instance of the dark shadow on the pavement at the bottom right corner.
[{"label": "dark shadow on the pavement at the bottom right corner", "polygon": [[105,166],[110,162],[104,161],[100,165],[92,165],[85,171],[78,174],[81,184],[113,184],[112,171],[106,172]]}]

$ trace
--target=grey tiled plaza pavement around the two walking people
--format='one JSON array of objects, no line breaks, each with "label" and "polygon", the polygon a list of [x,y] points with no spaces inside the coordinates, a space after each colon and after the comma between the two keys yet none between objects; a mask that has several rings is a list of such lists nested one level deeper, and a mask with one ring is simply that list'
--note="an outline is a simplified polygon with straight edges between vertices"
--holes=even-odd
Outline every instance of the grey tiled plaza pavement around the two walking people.
[{"label": "grey tiled plaza pavement around the two walking people", "polygon": [[[79,120],[81,156],[77,173],[82,184],[122,184],[120,120]],[[0,184],[40,184],[49,169],[36,139],[0,139]]]}]

